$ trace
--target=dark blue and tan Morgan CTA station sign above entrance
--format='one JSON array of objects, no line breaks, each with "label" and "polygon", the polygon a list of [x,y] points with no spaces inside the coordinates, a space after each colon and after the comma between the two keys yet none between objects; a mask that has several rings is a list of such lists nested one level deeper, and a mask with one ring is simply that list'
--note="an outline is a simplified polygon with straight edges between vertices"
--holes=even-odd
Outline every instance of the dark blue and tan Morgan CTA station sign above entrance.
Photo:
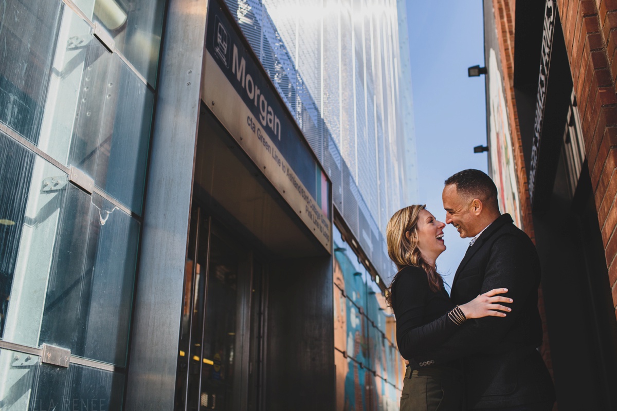
[{"label": "dark blue and tan Morgan CTA station sign above entrance", "polygon": [[225,6],[211,0],[202,100],[326,248],[331,183]]}]

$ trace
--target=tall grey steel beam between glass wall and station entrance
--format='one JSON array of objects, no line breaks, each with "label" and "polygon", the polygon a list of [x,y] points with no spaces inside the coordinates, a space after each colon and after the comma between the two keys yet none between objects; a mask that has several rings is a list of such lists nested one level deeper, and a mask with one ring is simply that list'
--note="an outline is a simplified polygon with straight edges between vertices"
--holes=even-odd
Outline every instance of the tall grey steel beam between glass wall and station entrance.
[{"label": "tall grey steel beam between glass wall and station entrance", "polygon": [[207,0],[169,0],[157,87],[126,410],[172,410]]}]

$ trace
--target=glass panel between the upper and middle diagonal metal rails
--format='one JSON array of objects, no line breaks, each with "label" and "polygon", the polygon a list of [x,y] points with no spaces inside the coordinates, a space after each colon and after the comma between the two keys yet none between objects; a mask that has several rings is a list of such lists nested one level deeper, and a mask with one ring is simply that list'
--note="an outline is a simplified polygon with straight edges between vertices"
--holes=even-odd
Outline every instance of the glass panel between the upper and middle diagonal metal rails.
[{"label": "glass panel between the upper and middle diagonal metal rails", "polygon": [[0,121],[140,214],[154,93],[62,2],[7,4]]}]

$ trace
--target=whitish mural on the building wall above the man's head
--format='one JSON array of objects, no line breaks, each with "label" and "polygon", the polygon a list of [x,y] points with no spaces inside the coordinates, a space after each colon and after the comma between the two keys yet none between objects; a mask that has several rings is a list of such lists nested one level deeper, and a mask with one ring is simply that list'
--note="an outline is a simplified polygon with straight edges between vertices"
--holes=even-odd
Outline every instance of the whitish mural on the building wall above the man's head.
[{"label": "whitish mural on the building wall above the man's head", "polygon": [[[510,136],[510,123],[505,105],[503,83],[497,55],[491,48],[489,53],[489,147],[491,155],[491,177],[497,185],[499,208],[502,213],[512,216],[514,224],[523,229],[521,201]],[[495,75],[491,75],[495,73]]]}]

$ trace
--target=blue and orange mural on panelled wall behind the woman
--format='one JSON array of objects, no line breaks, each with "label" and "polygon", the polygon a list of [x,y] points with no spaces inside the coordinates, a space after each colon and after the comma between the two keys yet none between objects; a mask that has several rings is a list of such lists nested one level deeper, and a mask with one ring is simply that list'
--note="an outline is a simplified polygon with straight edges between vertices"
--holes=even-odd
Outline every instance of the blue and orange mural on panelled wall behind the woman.
[{"label": "blue and orange mural on panelled wall behind the woman", "polygon": [[398,410],[405,365],[386,300],[352,248],[334,234],[336,410]]}]

